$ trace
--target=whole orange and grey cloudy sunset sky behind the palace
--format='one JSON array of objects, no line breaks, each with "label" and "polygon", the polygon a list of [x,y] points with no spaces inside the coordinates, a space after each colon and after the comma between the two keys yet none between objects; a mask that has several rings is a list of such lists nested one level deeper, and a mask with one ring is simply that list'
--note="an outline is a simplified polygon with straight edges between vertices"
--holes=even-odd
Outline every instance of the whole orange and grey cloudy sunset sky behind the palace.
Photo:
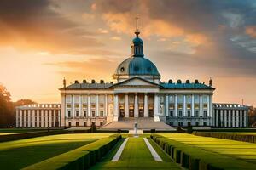
[{"label": "whole orange and grey cloudy sunset sky behind the palace", "polygon": [[212,77],[213,102],[256,105],[255,0],[1,0],[0,83],[13,101],[61,103],[63,77],[110,82],[136,16],[162,82]]}]

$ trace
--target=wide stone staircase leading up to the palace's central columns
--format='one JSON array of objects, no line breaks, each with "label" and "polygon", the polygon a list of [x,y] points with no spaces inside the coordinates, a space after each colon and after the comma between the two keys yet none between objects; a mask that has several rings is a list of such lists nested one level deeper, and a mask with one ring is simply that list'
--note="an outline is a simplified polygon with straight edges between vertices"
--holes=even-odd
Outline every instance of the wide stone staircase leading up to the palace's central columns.
[{"label": "wide stone staircase leading up to the palace's central columns", "polygon": [[163,130],[163,131],[176,131],[175,128],[167,125],[164,122],[154,122],[153,117],[129,117],[129,118],[119,118],[118,122],[110,122],[107,125],[104,125],[102,130],[131,130],[134,129],[134,124],[137,122],[138,129],[141,130]]}]

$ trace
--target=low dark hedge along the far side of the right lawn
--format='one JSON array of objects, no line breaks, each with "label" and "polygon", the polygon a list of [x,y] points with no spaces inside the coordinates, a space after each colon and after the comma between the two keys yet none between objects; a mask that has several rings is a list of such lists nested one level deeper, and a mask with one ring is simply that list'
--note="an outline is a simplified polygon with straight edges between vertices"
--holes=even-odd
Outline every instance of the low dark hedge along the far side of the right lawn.
[{"label": "low dark hedge along the far side of the right lawn", "polygon": [[218,139],[230,139],[238,140],[241,142],[256,143],[256,133],[255,134],[245,134],[245,133],[211,133],[211,132],[193,132],[192,134],[196,136],[212,137]]}]

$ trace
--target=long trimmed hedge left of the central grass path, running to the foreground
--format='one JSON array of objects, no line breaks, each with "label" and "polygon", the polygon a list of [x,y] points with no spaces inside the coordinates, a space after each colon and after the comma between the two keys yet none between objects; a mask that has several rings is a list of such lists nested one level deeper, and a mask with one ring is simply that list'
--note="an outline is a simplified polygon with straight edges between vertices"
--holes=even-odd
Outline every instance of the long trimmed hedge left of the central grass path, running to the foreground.
[{"label": "long trimmed hedge left of the central grass path, running to the foreground", "polygon": [[108,138],[96,140],[78,149],[68,151],[59,156],[38,162],[24,170],[84,170],[100,161],[102,157],[121,139],[121,135],[114,134]]}]

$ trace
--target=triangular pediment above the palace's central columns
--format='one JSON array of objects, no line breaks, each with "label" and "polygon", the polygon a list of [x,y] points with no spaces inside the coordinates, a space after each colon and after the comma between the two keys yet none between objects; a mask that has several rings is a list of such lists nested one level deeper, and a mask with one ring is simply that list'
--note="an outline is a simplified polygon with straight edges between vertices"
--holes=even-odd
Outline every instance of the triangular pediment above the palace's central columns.
[{"label": "triangular pediment above the palace's central columns", "polygon": [[117,86],[150,86],[150,87],[159,87],[159,85],[155,82],[150,82],[146,79],[143,79],[141,77],[132,77],[130,79],[127,79],[123,82],[119,82],[114,84],[113,86],[117,87]]}]

